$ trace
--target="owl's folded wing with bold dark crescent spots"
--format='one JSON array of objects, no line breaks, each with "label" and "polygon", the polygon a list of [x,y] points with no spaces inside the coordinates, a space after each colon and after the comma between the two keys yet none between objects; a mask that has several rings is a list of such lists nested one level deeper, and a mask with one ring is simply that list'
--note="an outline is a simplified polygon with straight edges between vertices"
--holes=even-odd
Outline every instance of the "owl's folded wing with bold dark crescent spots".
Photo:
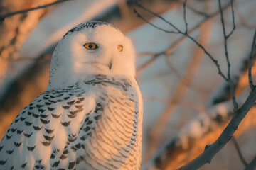
[{"label": "owl's folded wing with bold dark crescent spots", "polygon": [[[94,98],[78,84],[45,91],[17,115],[1,140],[0,169],[57,167],[54,157],[63,155],[94,110]],[[70,159],[62,164],[73,169]]]}]

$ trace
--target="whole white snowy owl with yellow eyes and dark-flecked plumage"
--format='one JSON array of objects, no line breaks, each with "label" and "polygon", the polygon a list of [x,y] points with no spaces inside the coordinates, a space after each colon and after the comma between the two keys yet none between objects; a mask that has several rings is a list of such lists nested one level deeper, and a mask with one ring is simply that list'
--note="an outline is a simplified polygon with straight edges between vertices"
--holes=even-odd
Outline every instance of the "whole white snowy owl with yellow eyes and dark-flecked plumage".
[{"label": "whole white snowy owl with yellow eyes and dark-flecked plumage", "polygon": [[46,91],[0,143],[0,169],[139,169],[142,96],[131,40],[101,21],[58,43]]}]

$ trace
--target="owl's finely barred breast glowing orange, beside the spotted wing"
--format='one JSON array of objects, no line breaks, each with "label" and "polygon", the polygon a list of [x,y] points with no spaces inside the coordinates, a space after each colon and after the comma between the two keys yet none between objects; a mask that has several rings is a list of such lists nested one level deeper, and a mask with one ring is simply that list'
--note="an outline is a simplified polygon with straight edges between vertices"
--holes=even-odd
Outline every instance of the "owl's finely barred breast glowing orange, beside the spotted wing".
[{"label": "owl's finely barred breast glowing orange, beside the spotted wing", "polygon": [[97,76],[86,84],[97,91],[95,112],[74,142],[78,169],[139,169],[142,145],[142,97],[136,81]]}]

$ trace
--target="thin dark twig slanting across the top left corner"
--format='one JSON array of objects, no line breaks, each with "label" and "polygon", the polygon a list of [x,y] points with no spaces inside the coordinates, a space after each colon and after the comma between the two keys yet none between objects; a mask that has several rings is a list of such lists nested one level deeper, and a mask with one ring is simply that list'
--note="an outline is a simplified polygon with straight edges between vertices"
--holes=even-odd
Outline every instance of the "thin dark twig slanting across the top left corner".
[{"label": "thin dark twig slanting across the top left corner", "polygon": [[46,8],[48,6],[53,6],[55,4],[60,4],[60,3],[64,2],[64,1],[70,1],[70,0],[59,0],[59,1],[55,1],[53,3],[46,4],[46,5],[43,5],[43,6],[37,6],[35,8],[28,8],[28,9],[24,9],[24,10],[21,10],[21,11],[16,11],[16,12],[13,12],[13,13],[6,13],[4,15],[0,15],[0,21],[4,21],[4,19],[7,18],[7,17],[15,16],[15,15],[21,14],[21,13],[27,13],[29,11],[37,10],[39,8]]}]

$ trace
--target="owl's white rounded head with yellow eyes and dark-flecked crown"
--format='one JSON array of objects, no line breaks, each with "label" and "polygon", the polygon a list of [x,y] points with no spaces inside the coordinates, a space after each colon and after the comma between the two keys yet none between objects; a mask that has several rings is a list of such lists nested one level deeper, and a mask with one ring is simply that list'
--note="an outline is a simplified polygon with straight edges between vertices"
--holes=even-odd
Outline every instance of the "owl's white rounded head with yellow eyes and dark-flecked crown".
[{"label": "owl's white rounded head with yellow eyes and dark-flecked crown", "polygon": [[132,41],[110,23],[81,23],[63,36],[53,52],[48,86],[63,86],[93,74],[135,77]]}]

